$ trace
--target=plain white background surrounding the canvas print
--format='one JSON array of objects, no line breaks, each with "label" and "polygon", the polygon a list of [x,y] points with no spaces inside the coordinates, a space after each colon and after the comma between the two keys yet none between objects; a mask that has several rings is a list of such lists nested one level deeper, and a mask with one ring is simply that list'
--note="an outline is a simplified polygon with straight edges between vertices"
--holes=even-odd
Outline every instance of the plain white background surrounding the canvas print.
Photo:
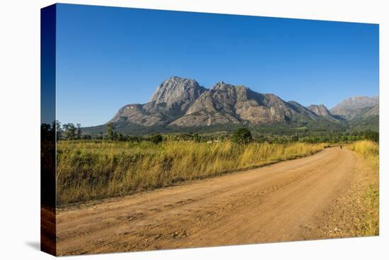
[{"label": "plain white background surrounding the canvas print", "polygon": [[[74,256],[72,259],[388,259],[388,48],[385,1],[84,0],[73,4],[380,23],[381,235],[354,239]],[[0,259],[50,259],[40,241],[40,8],[54,1],[2,1],[0,8]],[[386,8],[385,8],[386,7]],[[386,11],[385,11],[386,10]]]}]

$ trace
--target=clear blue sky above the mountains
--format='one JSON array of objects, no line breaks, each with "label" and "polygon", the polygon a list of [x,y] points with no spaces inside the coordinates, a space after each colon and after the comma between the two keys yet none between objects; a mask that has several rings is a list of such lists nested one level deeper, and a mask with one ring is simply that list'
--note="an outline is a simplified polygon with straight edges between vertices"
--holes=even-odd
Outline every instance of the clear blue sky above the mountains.
[{"label": "clear blue sky above the mountains", "polygon": [[378,94],[378,25],[57,6],[57,119],[106,123],[171,76],[332,108]]}]

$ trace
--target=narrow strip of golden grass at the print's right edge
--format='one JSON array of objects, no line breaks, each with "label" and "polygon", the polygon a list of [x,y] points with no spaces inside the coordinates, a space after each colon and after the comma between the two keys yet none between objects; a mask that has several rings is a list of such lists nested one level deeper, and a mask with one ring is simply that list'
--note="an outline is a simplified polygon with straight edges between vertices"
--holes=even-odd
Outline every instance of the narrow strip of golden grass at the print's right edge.
[{"label": "narrow strip of golden grass at the print's right edge", "polygon": [[362,154],[373,168],[373,176],[364,193],[363,203],[366,208],[363,235],[379,234],[379,146],[376,142],[359,141],[349,145],[354,152]]}]

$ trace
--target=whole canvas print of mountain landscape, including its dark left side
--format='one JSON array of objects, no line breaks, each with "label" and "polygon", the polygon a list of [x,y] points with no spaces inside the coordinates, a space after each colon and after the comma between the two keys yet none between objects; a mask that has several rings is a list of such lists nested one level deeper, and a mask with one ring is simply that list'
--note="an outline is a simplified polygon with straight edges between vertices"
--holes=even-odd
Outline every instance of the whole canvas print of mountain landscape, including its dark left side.
[{"label": "whole canvas print of mountain landscape, including its dark left side", "polygon": [[41,12],[41,247],[376,236],[378,24]]}]

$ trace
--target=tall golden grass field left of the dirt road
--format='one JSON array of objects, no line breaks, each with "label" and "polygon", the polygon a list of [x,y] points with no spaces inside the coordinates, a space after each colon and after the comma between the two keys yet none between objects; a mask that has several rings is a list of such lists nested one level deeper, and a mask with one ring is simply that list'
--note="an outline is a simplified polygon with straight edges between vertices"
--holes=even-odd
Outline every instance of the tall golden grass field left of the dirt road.
[{"label": "tall golden grass field left of the dirt road", "polygon": [[324,144],[192,141],[57,144],[57,205],[170,186],[179,181],[262,166],[323,149]]}]

